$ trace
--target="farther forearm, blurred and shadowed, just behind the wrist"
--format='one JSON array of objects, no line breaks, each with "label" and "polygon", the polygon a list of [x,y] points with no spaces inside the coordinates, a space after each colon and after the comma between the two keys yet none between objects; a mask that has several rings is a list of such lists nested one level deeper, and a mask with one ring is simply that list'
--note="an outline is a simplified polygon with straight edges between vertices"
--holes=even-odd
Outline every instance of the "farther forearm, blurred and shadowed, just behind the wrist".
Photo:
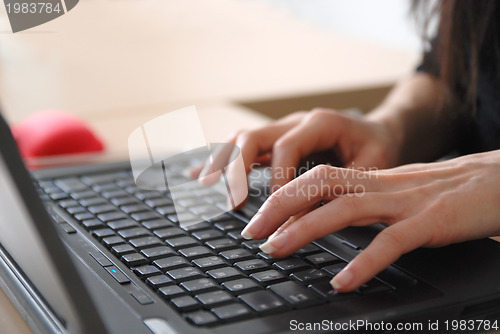
[{"label": "farther forearm, blurred and shadowed, just behind the wrist", "polygon": [[434,77],[417,73],[396,85],[366,116],[391,130],[399,164],[433,161],[456,144],[461,121],[444,105],[442,94]]}]

